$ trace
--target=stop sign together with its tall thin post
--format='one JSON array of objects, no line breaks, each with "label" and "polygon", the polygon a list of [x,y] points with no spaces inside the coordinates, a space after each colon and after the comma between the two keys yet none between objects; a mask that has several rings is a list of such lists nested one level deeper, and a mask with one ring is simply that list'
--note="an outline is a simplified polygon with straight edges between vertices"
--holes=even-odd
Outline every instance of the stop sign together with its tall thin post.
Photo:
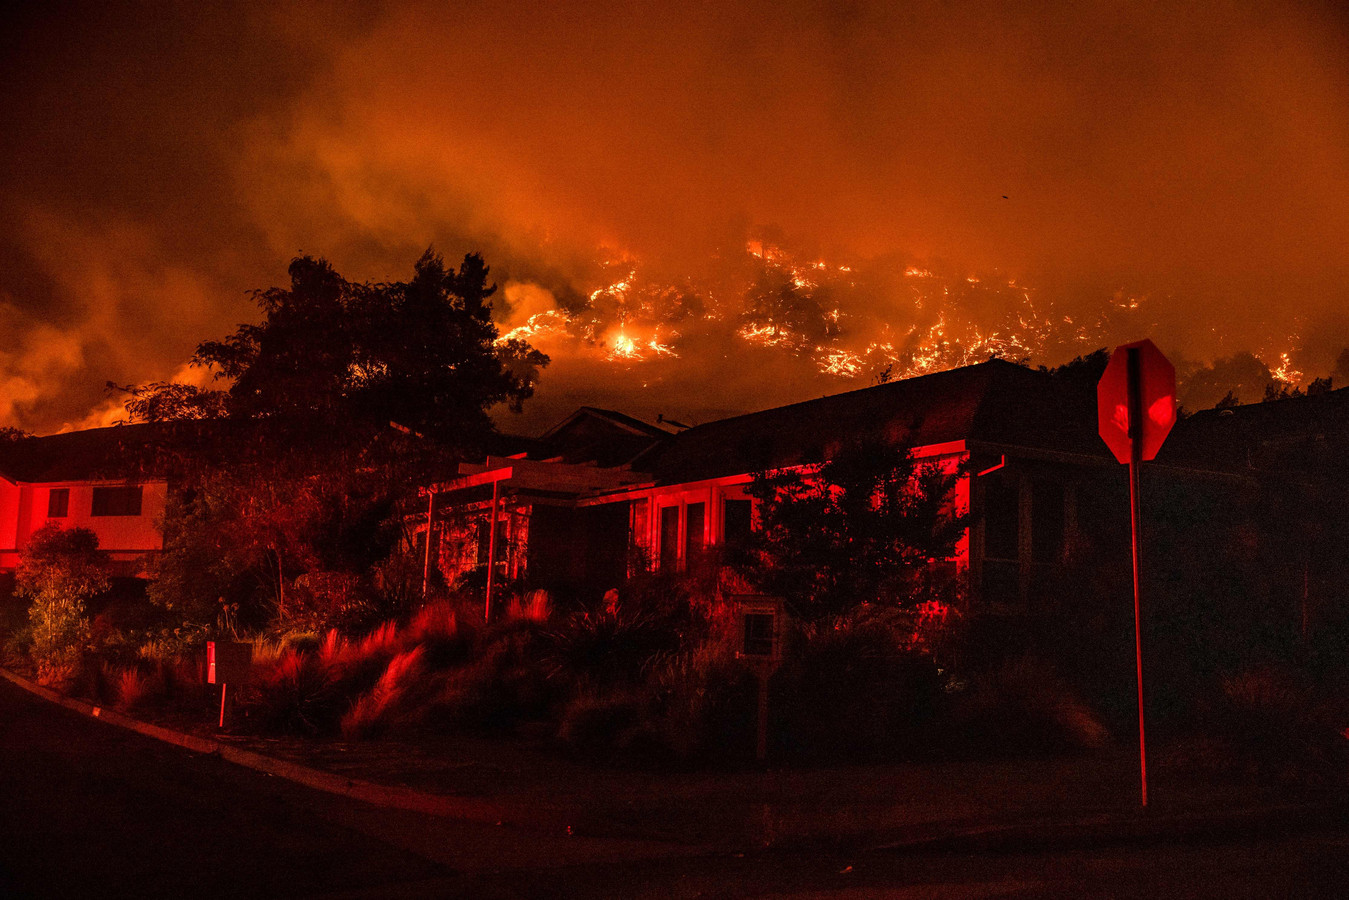
[{"label": "stop sign together with its tall thin post", "polygon": [[1101,439],[1129,466],[1129,522],[1133,534],[1133,658],[1139,683],[1139,773],[1148,806],[1148,749],[1143,715],[1143,513],[1139,470],[1156,457],[1176,421],[1176,370],[1151,340],[1114,348],[1097,385]]}]

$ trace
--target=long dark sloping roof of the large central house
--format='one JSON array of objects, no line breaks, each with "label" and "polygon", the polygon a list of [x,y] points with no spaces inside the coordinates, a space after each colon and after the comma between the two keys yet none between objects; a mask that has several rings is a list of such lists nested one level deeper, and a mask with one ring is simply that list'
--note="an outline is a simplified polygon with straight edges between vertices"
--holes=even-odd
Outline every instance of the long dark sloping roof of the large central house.
[{"label": "long dark sloping roof of the large central house", "polygon": [[691,482],[816,463],[869,433],[915,447],[966,440],[1106,455],[1095,385],[994,359],[699,425],[633,467],[664,483]]}]

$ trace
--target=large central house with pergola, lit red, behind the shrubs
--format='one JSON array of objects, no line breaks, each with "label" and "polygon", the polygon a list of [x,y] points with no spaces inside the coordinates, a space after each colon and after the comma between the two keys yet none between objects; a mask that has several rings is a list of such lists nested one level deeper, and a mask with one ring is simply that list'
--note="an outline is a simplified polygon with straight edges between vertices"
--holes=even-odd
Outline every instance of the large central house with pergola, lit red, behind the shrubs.
[{"label": "large central house with pergola, lit red, behind the shrubs", "polygon": [[532,449],[424,491],[428,564],[448,580],[478,571],[594,596],[751,529],[755,472],[819,463],[866,434],[960,472],[955,503],[974,517],[954,563],[981,602],[1010,609],[1062,565],[1085,498],[1118,468],[1095,433],[1094,383],[1004,360],[679,432],[583,407]]}]

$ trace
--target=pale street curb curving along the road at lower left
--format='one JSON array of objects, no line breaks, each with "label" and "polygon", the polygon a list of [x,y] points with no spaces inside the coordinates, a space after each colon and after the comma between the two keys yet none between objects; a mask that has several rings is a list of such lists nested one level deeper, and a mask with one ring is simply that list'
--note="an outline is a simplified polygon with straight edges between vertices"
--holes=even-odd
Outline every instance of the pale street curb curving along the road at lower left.
[{"label": "pale street curb curving along the road at lower left", "polygon": [[384,784],[376,784],[374,781],[366,781],[362,779],[352,779],[341,775],[335,775],[332,772],[324,772],[321,769],[312,769],[306,765],[298,762],[290,762],[286,760],[278,760],[275,757],[264,756],[262,753],[255,753],[252,750],[244,750],[241,748],[233,748],[220,741],[212,741],[209,738],[200,738],[192,734],[183,734],[181,731],[174,731],[158,725],[150,725],[148,722],[142,722],[140,719],[134,719],[128,715],[123,715],[115,710],[107,707],[94,706],[85,700],[77,700],[73,698],[63,696],[51,688],[45,688],[40,684],[35,684],[28,679],[11,672],[9,669],[0,668],[0,676],[7,681],[23,688],[28,694],[42,698],[50,703],[63,706],[73,712],[80,715],[88,715],[90,718],[98,719],[100,722],[107,722],[108,725],[127,729],[128,731],[135,731],[147,738],[154,738],[156,741],[163,741],[165,743],[173,743],[181,746],[193,753],[200,753],[204,756],[217,756],[221,760],[233,762],[235,765],[241,765],[264,775],[275,776],[279,779],[286,779],[287,781],[294,781],[297,784],[304,784],[305,787],[314,788],[316,791],[325,791],[328,793],[339,793],[353,800],[362,800],[379,807],[387,807],[394,810],[406,810],[409,812],[422,812],[428,815],[441,816],[447,819],[461,819],[467,822],[480,822],[487,824],[513,824],[513,826],[526,826],[538,827],[538,823],[522,822],[515,816],[510,815],[506,807],[499,807],[483,800],[467,799],[467,797],[452,797],[440,793],[424,793],[421,791],[414,791],[411,788],[399,788]]}]

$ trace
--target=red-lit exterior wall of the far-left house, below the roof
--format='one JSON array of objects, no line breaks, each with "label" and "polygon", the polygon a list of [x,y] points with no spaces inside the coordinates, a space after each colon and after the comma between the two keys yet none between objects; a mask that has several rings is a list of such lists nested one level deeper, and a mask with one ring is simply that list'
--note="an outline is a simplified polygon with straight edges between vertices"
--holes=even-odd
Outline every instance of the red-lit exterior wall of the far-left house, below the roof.
[{"label": "red-lit exterior wall of the far-left house, below the roof", "polygon": [[[32,533],[49,521],[63,528],[88,528],[98,536],[98,546],[113,561],[132,561],[163,549],[159,524],[165,514],[169,486],[165,482],[140,484],[139,515],[94,515],[94,487],[119,487],[125,482],[53,482],[45,484],[9,484],[0,480],[0,569],[15,568]],[[53,490],[70,491],[67,514],[47,517]]]}]

